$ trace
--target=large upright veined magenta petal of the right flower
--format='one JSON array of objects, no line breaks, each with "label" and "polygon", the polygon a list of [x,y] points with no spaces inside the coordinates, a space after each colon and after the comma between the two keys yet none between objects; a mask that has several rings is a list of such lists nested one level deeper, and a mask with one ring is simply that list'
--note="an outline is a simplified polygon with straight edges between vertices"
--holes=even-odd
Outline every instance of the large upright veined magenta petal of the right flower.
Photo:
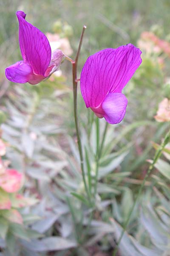
[{"label": "large upright veined magenta petal of the right flower", "polygon": [[80,87],[86,107],[97,108],[109,92],[121,93],[142,63],[132,44],[104,49],[91,55],[82,69]]}]

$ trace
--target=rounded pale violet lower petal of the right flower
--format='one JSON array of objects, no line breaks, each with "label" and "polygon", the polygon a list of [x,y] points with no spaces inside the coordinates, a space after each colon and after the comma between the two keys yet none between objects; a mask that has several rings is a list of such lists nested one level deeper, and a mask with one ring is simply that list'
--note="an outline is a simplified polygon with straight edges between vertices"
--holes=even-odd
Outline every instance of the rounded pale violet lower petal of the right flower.
[{"label": "rounded pale violet lower petal of the right flower", "polygon": [[102,102],[104,117],[110,124],[118,124],[125,116],[127,99],[122,93],[108,93]]}]

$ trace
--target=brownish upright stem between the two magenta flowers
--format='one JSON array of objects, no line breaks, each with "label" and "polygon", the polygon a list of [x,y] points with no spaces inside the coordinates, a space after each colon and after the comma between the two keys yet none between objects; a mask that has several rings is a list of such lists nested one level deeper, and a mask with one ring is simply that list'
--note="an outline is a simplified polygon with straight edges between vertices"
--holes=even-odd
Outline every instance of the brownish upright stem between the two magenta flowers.
[{"label": "brownish upright stem between the two magenta flowers", "polygon": [[79,148],[79,156],[80,156],[80,163],[81,163],[81,169],[82,169],[82,178],[83,178],[83,183],[85,185],[85,191],[86,194],[88,196],[89,201],[91,201],[91,197],[90,197],[90,193],[88,190],[88,186],[86,183],[86,179],[85,179],[85,170],[84,170],[84,160],[83,160],[83,153],[82,153],[82,143],[81,143],[81,138],[80,138],[80,133],[79,133],[79,125],[78,125],[78,117],[77,117],[77,62],[78,62],[78,58],[79,58],[79,54],[80,54],[80,50],[81,50],[81,46],[82,46],[82,39],[83,39],[83,35],[85,32],[86,26],[83,26],[82,29],[82,35],[80,38],[80,42],[79,42],[79,48],[77,51],[77,55],[76,55],[76,59],[75,61],[71,61],[72,63],[72,71],[73,71],[73,96],[74,96],[74,121],[75,121],[75,126],[76,126],[76,134],[77,134],[77,144],[78,144],[78,148]]}]

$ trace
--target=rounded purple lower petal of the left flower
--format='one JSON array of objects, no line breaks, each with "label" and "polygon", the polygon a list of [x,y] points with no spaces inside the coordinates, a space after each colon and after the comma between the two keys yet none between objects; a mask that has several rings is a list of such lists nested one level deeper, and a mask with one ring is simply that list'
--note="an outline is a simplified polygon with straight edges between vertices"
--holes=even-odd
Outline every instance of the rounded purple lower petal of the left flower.
[{"label": "rounded purple lower petal of the left flower", "polygon": [[24,61],[18,61],[10,67],[7,67],[5,74],[8,80],[14,83],[24,84],[29,81],[32,75],[32,68]]}]

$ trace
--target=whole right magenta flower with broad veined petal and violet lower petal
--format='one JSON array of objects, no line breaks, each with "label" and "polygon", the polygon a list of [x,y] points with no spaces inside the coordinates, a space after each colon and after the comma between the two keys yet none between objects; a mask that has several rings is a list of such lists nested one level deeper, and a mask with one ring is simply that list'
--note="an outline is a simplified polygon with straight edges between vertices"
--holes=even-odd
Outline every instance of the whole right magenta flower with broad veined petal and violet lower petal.
[{"label": "whole right magenta flower with broad veined petal and violet lower petal", "polygon": [[85,105],[110,124],[118,124],[125,116],[127,99],[122,89],[142,63],[141,53],[127,44],[96,52],[85,62],[80,78]]}]

